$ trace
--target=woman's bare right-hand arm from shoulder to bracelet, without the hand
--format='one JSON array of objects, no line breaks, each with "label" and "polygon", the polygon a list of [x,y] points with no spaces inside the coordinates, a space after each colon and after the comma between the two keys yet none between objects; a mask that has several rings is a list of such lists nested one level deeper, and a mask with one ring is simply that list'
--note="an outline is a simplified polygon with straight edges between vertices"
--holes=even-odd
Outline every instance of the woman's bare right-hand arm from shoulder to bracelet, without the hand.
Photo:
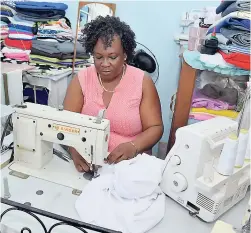
[{"label": "woman's bare right-hand arm from shoulder to bracelet, without the hand", "polygon": [[137,152],[151,149],[162,137],[164,126],[158,92],[151,78],[144,77],[143,96],[140,105],[143,132],[133,141]]}]

